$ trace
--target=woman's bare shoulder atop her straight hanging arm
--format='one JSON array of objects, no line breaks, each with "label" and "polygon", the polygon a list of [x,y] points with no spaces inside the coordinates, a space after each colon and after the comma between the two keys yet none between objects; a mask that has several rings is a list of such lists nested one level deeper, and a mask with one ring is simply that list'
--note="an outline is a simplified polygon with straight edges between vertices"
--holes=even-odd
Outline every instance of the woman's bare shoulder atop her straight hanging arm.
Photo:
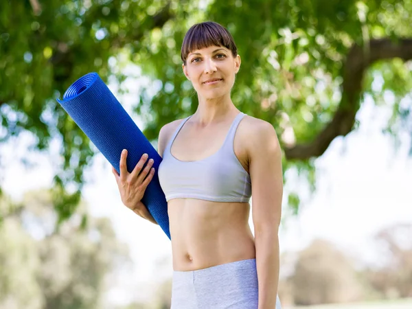
[{"label": "woman's bare shoulder atop her straight hanging arm", "polygon": [[271,123],[245,115],[240,122],[239,131],[249,159],[265,153],[268,155],[280,153],[279,139]]}]

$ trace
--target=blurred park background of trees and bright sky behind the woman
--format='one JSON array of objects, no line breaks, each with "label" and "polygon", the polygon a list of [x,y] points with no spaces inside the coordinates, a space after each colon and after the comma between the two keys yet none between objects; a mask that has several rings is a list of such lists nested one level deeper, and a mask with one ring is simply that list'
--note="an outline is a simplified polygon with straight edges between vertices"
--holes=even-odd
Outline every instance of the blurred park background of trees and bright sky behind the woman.
[{"label": "blurred park background of trees and bright sky behind the woman", "polygon": [[56,98],[98,72],[156,146],[196,110],[180,46],[206,20],[284,150],[284,308],[412,308],[411,0],[2,0],[0,309],[170,308],[170,241]]}]

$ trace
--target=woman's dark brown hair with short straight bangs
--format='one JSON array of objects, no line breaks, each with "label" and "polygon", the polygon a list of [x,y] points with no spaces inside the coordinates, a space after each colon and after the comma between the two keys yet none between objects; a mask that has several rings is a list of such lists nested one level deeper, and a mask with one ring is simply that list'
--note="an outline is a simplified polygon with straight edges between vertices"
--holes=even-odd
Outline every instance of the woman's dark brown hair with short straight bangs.
[{"label": "woman's dark brown hair with short straight bangs", "polygon": [[238,48],[229,31],[214,21],[205,21],[204,23],[196,23],[187,30],[181,49],[183,63],[186,65],[187,55],[190,52],[212,45],[230,49],[233,57],[238,55]]}]

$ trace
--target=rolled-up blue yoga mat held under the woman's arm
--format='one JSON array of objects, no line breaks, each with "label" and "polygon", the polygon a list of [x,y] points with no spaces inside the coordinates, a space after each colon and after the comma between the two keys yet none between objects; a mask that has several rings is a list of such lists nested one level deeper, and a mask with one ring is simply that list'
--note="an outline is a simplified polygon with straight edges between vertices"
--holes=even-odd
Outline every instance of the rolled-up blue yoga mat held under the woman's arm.
[{"label": "rolled-up blue yoga mat held under the woman's arm", "polygon": [[161,157],[98,73],[88,73],[73,82],[63,95],[63,100],[57,101],[117,172],[123,149],[128,150],[126,161],[129,172],[144,153],[155,160],[155,175],[141,201],[170,239],[168,204],[157,174]]}]

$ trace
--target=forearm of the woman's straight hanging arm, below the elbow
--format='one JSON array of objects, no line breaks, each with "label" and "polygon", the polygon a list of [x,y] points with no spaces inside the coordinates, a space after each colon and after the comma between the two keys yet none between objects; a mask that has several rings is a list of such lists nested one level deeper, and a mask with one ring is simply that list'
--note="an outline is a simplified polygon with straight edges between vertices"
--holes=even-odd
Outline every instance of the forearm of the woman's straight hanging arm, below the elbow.
[{"label": "forearm of the woman's straight hanging arm, below the elbow", "polygon": [[256,268],[258,271],[258,309],[274,309],[279,283],[279,237],[265,231],[255,235]]}]

